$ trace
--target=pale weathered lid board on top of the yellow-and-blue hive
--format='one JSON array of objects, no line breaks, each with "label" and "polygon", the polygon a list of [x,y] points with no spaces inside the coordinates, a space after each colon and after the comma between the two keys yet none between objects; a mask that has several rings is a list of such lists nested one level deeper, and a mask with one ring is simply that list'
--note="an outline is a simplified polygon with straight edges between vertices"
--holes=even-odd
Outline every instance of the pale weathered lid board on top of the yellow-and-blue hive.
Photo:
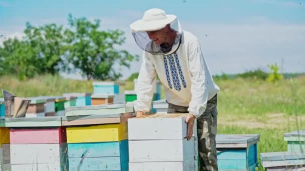
[{"label": "pale weathered lid board on top of the yellow-and-blue hive", "polygon": [[118,114],[134,112],[132,105],[127,104],[101,104],[89,106],[66,107],[66,116],[92,115],[92,114]]}]

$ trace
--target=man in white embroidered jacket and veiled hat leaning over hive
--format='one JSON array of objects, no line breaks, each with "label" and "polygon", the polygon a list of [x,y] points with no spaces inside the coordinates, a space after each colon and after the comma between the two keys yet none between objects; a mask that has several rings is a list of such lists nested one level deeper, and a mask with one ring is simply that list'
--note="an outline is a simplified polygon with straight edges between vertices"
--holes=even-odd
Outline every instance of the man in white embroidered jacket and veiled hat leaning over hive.
[{"label": "man in white embroidered jacket and veiled hat leaning over hive", "polygon": [[[199,41],[182,30],[177,17],[152,8],[130,24],[137,45],[144,50],[134,101],[136,116],[149,111],[157,75],[165,86],[168,113],[189,113],[187,139],[197,119],[200,170],[217,170],[217,92]],[[156,125],[158,126],[158,125]]]}]

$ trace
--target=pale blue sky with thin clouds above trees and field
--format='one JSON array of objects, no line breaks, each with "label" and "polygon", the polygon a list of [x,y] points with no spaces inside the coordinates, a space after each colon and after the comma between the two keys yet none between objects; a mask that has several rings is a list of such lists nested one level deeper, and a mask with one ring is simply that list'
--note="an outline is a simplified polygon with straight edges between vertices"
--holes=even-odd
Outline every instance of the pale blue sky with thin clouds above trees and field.
[{"label": "pale blue sky with thin clouds above trees and field", "polygon": [[[0,41],[22,37],[27,21],[67,26],[71,13],[125,31],[119,48],[141,55],[129,24],[149,8],[177,15],[182,29],[199,38],[212,74],[269,71],[275,62],[283,72],[305,72],[305,0],[0,0]],[[124,79],[140,64],[116,67]]]}]

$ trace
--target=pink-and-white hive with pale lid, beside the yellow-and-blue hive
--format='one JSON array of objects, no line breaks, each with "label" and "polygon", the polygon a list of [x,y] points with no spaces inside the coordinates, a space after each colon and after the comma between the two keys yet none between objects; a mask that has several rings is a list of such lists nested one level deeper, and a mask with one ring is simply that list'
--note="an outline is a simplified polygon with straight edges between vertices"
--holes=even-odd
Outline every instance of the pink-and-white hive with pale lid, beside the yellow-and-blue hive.
[{"label": "pink-and-white hive with pale lid, beside the yellow-and-blue hive", "polygon": [[61,117],[6,118],[12,170],[69,170]]}]

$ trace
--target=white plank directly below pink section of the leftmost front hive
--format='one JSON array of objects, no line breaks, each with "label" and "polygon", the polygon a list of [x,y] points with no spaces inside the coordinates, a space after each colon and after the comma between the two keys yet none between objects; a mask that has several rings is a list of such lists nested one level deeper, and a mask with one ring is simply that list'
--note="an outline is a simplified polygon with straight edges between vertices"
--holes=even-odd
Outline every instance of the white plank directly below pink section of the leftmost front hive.
[{"label": "white plank directly below pink section of the leftmost front hive", "polygon": [[65,161],[67,144],[11,144],[12,164],[58,164]]}]

